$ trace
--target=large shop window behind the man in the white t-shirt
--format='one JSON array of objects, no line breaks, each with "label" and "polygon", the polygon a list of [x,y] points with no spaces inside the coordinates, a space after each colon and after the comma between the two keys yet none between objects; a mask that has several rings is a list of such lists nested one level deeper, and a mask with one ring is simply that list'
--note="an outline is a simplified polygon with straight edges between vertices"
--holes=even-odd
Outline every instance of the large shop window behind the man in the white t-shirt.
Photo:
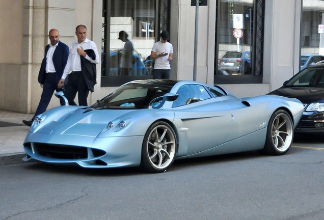
[{"label": "large shop window behind the man in the white t-shirt", "polygon": [[152,78],[149,55],[159,33],[169,28],[169,5],[170,0],[103,0],[101,87]]}]

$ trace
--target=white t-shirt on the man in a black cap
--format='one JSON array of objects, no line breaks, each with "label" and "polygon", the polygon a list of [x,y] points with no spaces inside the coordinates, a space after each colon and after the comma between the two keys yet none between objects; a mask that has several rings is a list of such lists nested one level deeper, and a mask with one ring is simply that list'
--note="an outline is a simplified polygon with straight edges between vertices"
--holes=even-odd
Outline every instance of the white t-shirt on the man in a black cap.
[{"label": "white t-shirt on the man in a black cap", "polygon": [[154,69],[171,69],[170,61],[168,61],[170,53],[173,53],[173,46],[171,43],[169,43],[168,41],[166,43],[158,41],[153,45],[152,51],[156,54],[163,52],[168,53],[168,56],[155,59]]}]

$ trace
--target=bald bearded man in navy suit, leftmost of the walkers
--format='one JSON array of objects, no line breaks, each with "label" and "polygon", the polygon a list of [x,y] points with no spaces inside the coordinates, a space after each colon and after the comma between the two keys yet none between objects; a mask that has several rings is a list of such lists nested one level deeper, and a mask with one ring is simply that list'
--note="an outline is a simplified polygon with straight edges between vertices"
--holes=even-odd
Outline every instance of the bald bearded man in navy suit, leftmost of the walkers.
[{"label": "bald bearded man in navy suit, leftmost of the walkers", "polygon": [[[69,47],[59,41],[60,34],[56,29],[49,31],[48,38],[50,44],[45,47],[45,57],[38,74],[38,82],[43,88],[43,92],[33,119],[31,121],[22,120],[27,126],[31,126],[35,117],[46,111],[54,91],[63,91],[62,87],[58,88],[58,83],[69,57]],[[60,100],[60,102],[61,105],[65,104],[63,100]]]}]

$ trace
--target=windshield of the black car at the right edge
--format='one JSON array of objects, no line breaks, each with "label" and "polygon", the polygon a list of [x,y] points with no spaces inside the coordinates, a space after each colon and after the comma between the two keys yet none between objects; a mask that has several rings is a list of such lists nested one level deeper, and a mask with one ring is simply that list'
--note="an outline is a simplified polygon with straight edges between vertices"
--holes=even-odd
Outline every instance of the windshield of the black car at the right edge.
[{"label": "windshield of the black car at the right edge", "polygon": [[293,87],[323,87],[324,68],[307,68],[291,78],[285,86]]}]

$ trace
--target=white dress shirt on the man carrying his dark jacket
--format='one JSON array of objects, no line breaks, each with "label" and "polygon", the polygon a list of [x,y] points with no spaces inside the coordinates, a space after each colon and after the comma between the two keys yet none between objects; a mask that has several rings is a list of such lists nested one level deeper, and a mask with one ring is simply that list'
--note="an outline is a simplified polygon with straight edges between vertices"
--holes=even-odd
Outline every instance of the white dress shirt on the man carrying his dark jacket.
[{"label": "white dress shirt on the man carrying his dark jacket", "polygon": [[69,54],[69,58],[67,61],[67,64],[65,66],[62,78],[65,79],[66,76],[70,73],[70,71],[81,71],[81,60],[80,60],[80,55],[77,53],[76,49],[82,47],[84,50],[86,49],[93,49],[93,51],[96,54],[96,60],[92,60],[91,57],[88,56],[88,54],[86,55],[86,59],[88,61],[90,61],[91,63],[95,63],[95,64],[99,64],[99,54],[98,54],[98,49],[97,49],[97,45],[95,44],[95,42],[89,40],[88,38],[86,38],[86,40],[84,40],[81,43],[78,43],[77,41],[74,41],[71,45],[70,48],[70,54]]}]

